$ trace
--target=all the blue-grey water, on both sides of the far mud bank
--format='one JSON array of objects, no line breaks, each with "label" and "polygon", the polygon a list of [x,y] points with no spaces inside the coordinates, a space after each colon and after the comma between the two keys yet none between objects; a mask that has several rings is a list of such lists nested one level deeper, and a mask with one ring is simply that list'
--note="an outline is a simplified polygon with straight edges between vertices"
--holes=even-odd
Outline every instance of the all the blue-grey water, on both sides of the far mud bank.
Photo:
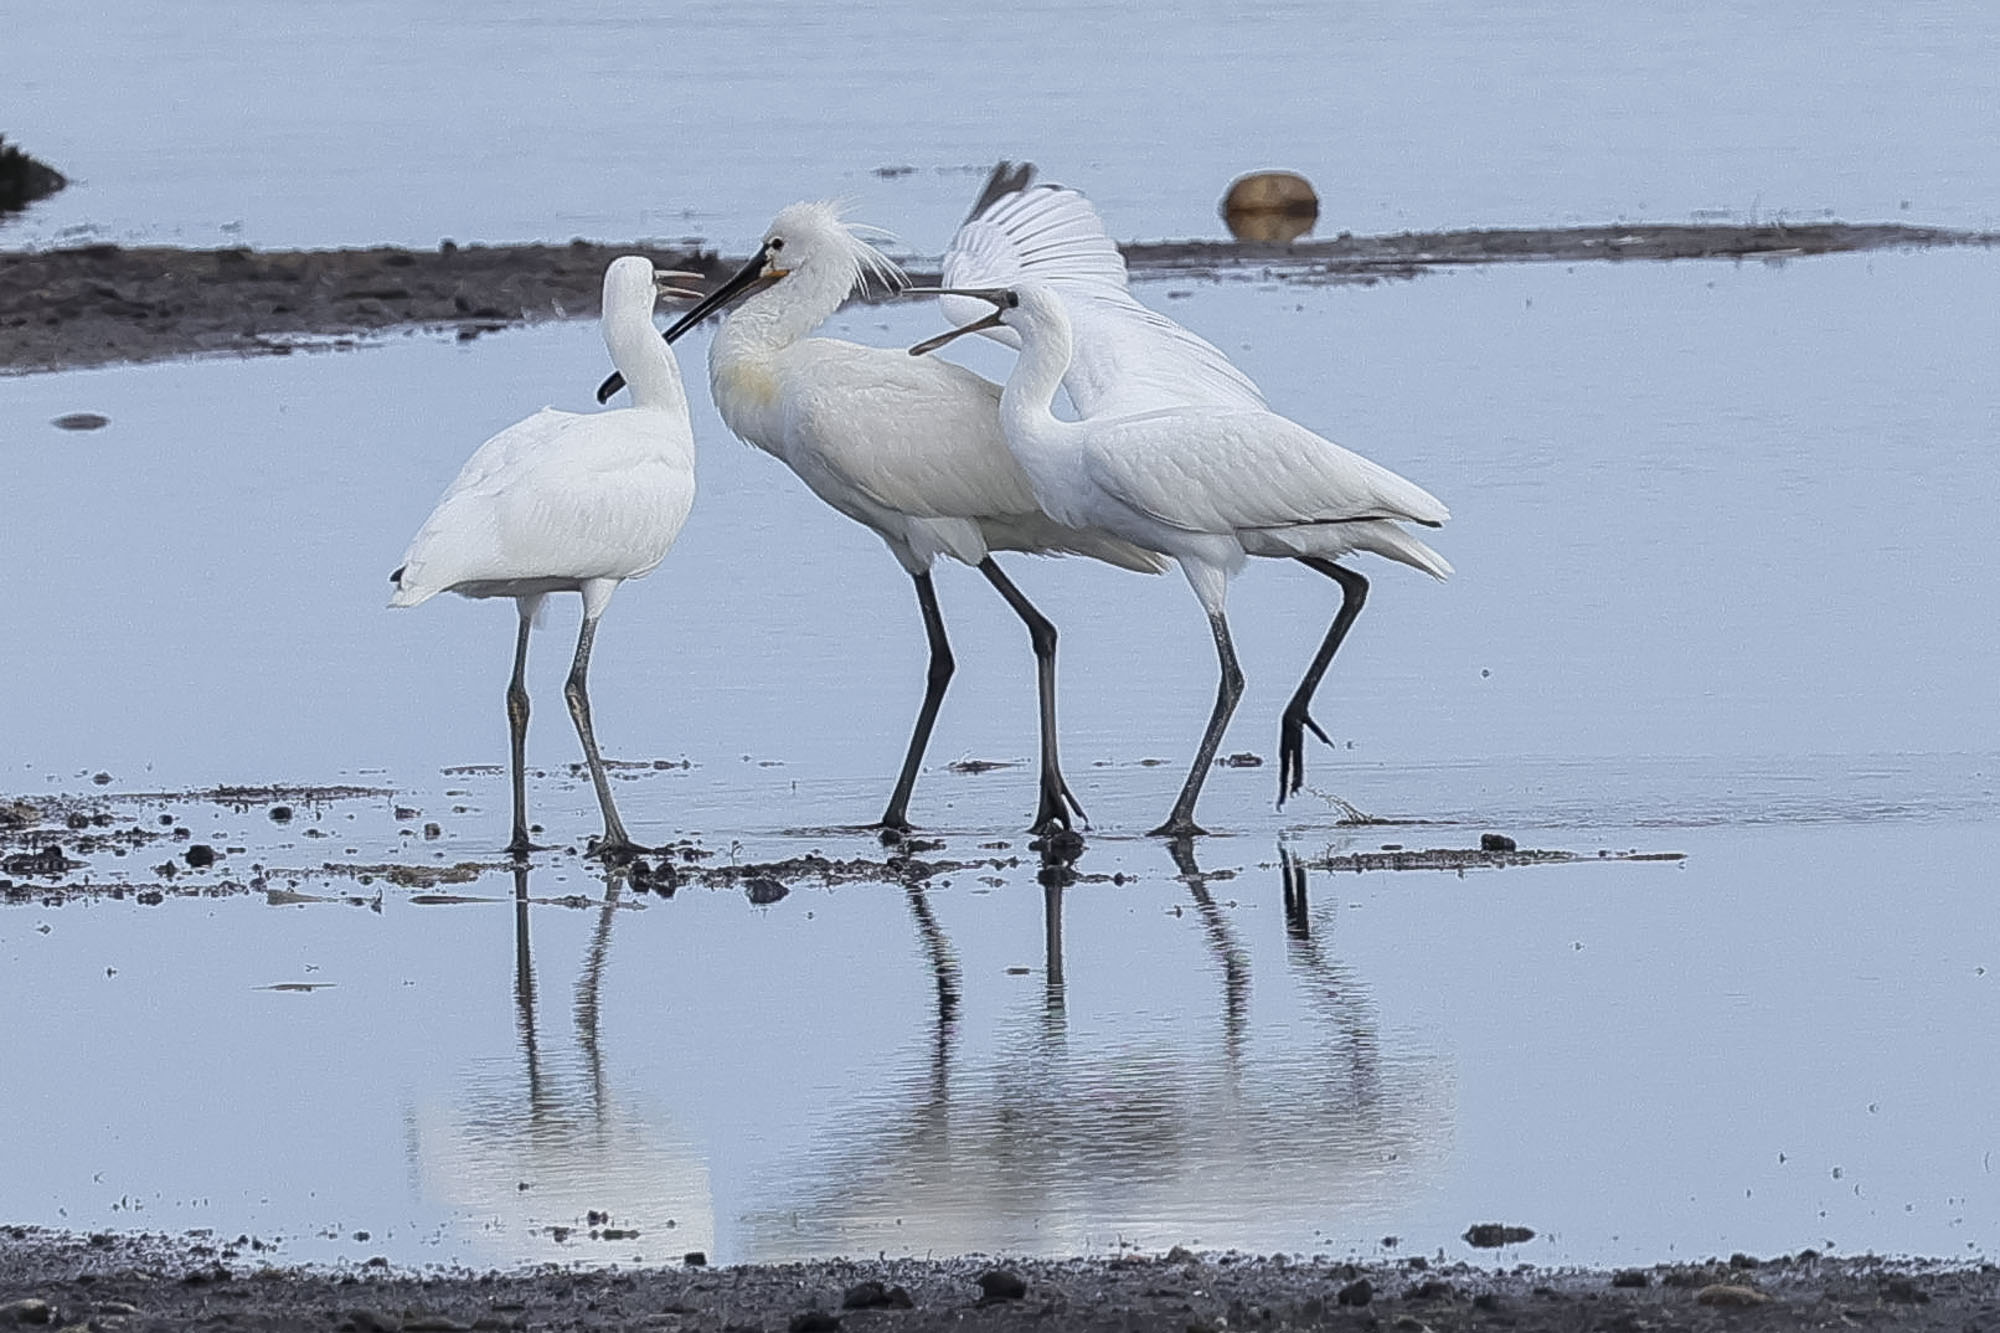
[{"label": "all the blue-grey water, on both sides of the far mud bank", "polygon": [[[2000,214],[1978,6],[266,14],[8,14],[48,60],[0,124],[78,184],[0,240],[740,246],[790,198],[852,194],[936,250],[1000,154],[1134,236],[1212,232],[1226,178],[1264,164],[1356,230]],[[1226,837],[1188,881],[1138,835],[1214,689],[1192,596],[1014,558],[1062,626],[1078,869],[1124,877],[1054,899],[1020,835],[1030,769],[948,769],[1032,755],[1024,634],[962,568],[938,578],[960,673],[912,815],[932,855],[1020,865],[602,909],[558,853],[524,911],[504,871],[452,905],[338,869],[504,841],[512,616],[388,612],[386,574],[478,440],[588,404],[588,324],[0,382],[0,791],[170,815],[224,849],[202,883],[262,879],[0,907],[0,1221],[480,1265],[1460,1255],[1474,1221],[1536,1227],[1508,1257],[1550,1263],[1992,1257],[1994,254],[1140,290],[1446,498],[1458,576],[1370,566],[1318,709],[1338,749],[1282,813],[1270,763],[1216,771]],[[832,332],[936,326],[856,308]],[[706,334],[680,354],[698,368]],[[836,827],[880,811],[922,685],[908,580],[694,400],[698,506],[592,673],[610,755],[690,765],[622,771],[626,819],[742,861],[862,855]],[[50,426],[74,410],[110,426]],[[596,813],[562,602],[530,759],[568,845]],[[1230,608],[1250,691],[1226,749],[1270,761],[1330,588],[1260,560]],[[148,795],[216,783],[394,795],[290,825]],[[1288,859],[1484,831],[1686,861],[1306,869],[1284,911]],[[90,875],[146,883],[166,855]],[[592,1211],[638,1235],[590,1239]]]}]

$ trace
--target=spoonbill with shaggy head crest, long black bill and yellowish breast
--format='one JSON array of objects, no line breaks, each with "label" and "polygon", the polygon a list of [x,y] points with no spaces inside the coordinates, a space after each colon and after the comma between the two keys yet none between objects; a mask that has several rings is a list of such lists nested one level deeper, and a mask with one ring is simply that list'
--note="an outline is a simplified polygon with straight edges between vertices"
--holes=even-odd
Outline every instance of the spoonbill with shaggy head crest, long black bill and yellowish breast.
[{"label": "spoonbill with shaggy head crest, long black bill and yellowish breast", "polygon": [[[816,496],[872,528],[916,582],[930,673],[902,773],[878,827],[910,829],[910,793],[952,679],[952,648],[930,566],[948,554],[980,570],[1028,626],[1040,701],[1036,833],[1082,817],[1056,755],[1056,626],[1014,586],[992,550],[1088,554],[1132,570],[1166,562],[1106,532],[1082,532],[1036,506],[1000,432],[1000,386],[962,366],[900,348],[808,336],[868,276],[902,272],[840,220],[832,204],[784,208],[736,276],[688,310],[672,342],[738,292],[708,350],[716,408],[746,442],[790,466]],[[618,376],[598,390],[616,392]]]}]

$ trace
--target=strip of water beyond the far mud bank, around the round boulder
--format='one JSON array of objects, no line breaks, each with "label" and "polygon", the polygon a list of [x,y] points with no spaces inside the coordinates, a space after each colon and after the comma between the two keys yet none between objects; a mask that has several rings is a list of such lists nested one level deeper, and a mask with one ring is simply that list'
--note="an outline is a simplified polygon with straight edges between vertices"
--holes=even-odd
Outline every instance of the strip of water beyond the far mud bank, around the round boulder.
[{"label": "strip of water beyond the far mud bank, around the round boulder", "polygon": [[2000,224],[2000,12],[1976,0],[16,10],[0,124],[76,184],[8,244],[742,252],[782,204],[846,196],[936,254],[1002,156],[1120,236],[1214,236],[1226,184],[1270,166],[1318,184],[1324,234]]}]

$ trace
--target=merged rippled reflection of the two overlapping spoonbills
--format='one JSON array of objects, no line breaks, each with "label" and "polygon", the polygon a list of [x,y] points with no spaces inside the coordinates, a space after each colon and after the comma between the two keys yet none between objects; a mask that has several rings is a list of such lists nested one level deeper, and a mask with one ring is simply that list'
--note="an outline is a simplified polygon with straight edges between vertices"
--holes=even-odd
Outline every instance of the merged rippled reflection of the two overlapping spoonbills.
[{"label": "merged rippled reflection of the two overlapping spoonbills", "polygon": [[[908,891],[938,977],[930,1059],[856,1091],[832,1115],[832,1139],[772,1173],[782,1185],[744,1217],[742,1257],[1080,1253],[1114,1235],[1268,1249],[1316,1233],[1372,1239],[1376,1227],[1400,1225],[1450,1143],[1446,1063],[1422,1049],[1384,1059],[1374,1003],[1332,957],[1332,917],[1322,909],[1314,919],[1304,867],[1286,849],[1270,887],[1286,903],[1284,935],[1268,947],[1246,941],[1244,919],[1216,901],[1216,873],[1204,873],[1192,849],[1170,855],[1184,885],[1172,897],[1182,909],[1192,897],[1198,949],[1222,979],[1220,1039],[1156,999],[1132,999],[1126,969],[1156,973],[1154,951],[1172,945],[1172,925],[1166,939],[1148,925],[1112,927],[1130,935],[1130,949],[1102,937],[1108,919],[1132,921],[1104,909],[1130,905],[1142,923],[1174,905],[1160,901],[1158,881],[1100,887],[1044,867],[1044,985],[1032,1009],[1014,1001],[998,1015],[960,1001],[958,955],[942,925],[952,895]],[[1234,897],[1254,899],[1254,883],[1238,875]],[[1064,909],[1084,901],[1076,895],[1092,897],[1066,933]],[[1080,921],[1088,935],[1076,933]],[[1076,959],[1066,961],[1064,947]],[[1078,959],[1092,967],[1080,973]],[[1276,971],[1254,1023],[1258,961]],[[1188,1017],[1216,1013],[1204,987],[1170,985],[1190,997]]]}]

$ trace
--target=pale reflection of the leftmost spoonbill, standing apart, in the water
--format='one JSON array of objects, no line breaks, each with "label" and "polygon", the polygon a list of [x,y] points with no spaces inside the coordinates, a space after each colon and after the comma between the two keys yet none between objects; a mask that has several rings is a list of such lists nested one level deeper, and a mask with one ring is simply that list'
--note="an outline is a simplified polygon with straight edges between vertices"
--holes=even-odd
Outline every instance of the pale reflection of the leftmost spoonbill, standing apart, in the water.
[{"label": "pale reflection of the leftmost spoonbill, standing apart, in the water", "polygon": [[538,1013],[530,917],[556,901],[536,899],[530,875],[530,867],[514,867],[518,1059],[474,1063],[450,1103],[412,1109],[420,1189],[464,1215],[460,1243],[480,1253],[460,1251],[462,1261],[658,1263],[712,1249],[706,1157],[656,1107],[620,1097],[606,1073],[600,993],[616,919],[630,911],[628,873],[604,875],[576,975],[574,1043],[554,1045],[544,1041]]}]

